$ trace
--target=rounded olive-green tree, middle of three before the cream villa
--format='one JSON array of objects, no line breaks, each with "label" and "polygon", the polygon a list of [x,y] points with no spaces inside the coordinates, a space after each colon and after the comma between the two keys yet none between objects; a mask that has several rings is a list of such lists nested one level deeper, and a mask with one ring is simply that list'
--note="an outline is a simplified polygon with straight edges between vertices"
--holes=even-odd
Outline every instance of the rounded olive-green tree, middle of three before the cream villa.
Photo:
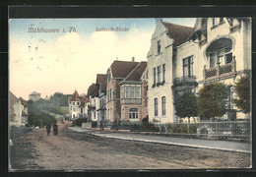
[{"label": "rounded olive-green tree, middle of three before the cream villa", "polygon": [[226,110],[227,87],[223,83],[211,83],[198,91],[199,115],[202,119],[222,117]]}]

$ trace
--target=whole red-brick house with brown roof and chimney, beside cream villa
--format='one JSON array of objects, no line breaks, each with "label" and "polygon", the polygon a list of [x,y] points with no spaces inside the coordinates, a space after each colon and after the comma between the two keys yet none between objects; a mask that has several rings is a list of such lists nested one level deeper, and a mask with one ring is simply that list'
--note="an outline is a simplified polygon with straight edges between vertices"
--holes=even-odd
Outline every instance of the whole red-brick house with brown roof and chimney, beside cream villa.
[{"label": "whole red-brick house with brown roof and chimney, beside cream villa", "polygon": [[[142,90],[146,91],[141,77],[146,67],[147,62],[135,62],[133,58],[132,61],[115,60],[108,68],[106,72],[106,120],[111,122],[142,120],[146,116],[147,113],[144,113],[147,111],[144,109],[143,112],[145,112],[142,113],[141,106],[144,102],[141,96]],[[120,86],[123,88],[122,97]],[[121,111],[121,104],[123,111]],[[131,118],[128,118],[129,116]]]}]

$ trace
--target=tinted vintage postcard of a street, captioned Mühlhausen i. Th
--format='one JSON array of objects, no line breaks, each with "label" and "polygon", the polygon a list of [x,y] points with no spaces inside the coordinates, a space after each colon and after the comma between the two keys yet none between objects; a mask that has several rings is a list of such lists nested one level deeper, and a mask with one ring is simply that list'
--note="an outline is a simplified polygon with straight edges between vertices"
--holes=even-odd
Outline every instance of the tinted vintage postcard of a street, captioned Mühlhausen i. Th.
[{"label": "tinted vintage postcard of a street, captioned M\u00fchlhausen i. Th", "polygon": [[9,171],[251,168],[251,18],[9,19]]}]

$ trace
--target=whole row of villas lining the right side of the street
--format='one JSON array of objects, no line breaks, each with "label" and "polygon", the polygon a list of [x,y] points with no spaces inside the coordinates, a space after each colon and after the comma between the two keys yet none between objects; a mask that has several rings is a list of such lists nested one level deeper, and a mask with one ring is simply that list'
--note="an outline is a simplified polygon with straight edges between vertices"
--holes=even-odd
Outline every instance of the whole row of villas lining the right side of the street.
[{"label": "whole row of villas lining the right side of the street", "polygon": [[176,123],[174,95],[198,91],[213,82],[223,82],[230,89],[224,118],[248,116],[231,99],[234,82],[251,70],[250,18],[198,18],[194,28],[156,19],[147,60],[115,60],[106,74],[97,75],[83,107],[86,116],[93,121],[149,117],[153,123]]}]

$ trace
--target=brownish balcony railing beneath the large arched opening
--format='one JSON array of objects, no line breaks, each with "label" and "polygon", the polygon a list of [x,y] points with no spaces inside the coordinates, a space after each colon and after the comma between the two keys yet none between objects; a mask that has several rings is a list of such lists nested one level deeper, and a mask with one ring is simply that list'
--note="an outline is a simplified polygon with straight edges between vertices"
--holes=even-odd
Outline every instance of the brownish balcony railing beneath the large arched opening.
[{"label": "brownish balcony railing beneath the large arched opening", "polygon": [[225,65],[218,65],[217,67],[206,69],[206,66],[204,68],[204,80],[208,79],[217,79],[219,77],[224,77],[228,75],[232,75],[236,71],[235,66],[235,58],[233,57],[233,60],[230,63],[227,63]]}]

